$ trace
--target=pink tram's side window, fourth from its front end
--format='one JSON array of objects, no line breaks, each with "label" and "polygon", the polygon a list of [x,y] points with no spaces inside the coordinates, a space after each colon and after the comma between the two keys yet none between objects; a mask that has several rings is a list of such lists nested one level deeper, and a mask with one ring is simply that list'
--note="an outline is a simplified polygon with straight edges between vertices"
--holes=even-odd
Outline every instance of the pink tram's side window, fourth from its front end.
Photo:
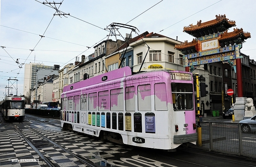
[{"label": "pink tram's side window, fourth from its front end", "polygon": [[112,89],[110,91],[110,110],[122,111],[124,109],[123,88]]}]

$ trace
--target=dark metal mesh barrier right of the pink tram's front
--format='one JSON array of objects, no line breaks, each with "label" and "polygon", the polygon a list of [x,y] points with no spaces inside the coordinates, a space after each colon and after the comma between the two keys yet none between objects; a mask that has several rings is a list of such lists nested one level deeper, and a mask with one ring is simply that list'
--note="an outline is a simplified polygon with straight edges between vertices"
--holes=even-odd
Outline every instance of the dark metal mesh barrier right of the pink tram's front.
[{"label": "dark metal mesh barrier right of the pink tram's front", "polygon": [[[198,122],[199,123],[199,122]],[[200,122],[202,146],[209,151],[256,157],[256,132],[243,133],[242,124]],[[256,124],[250,124],[256,126]]]}]

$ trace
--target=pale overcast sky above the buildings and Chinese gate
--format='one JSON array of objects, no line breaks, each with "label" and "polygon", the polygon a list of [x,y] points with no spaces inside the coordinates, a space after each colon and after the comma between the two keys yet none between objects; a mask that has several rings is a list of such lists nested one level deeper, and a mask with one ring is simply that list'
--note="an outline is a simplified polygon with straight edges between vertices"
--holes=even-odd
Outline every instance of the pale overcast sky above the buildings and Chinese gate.
[{"label": "pale overcast sky above the buildings and Chinese gate", "polygon": [[[108,36],[111,23],[127,23],[139,34],[148,31],[191,42],[193,37],[183,32],[184,26],[226,14],[236,21],[229,32],[233,28],[250,32],[251,38],[243,43],[241,52],[256,60],[256,0],[55,0],[62,2],[52,4],[58,13],[43,4],[46,0],[0,2],[0,100],[9,78],[18,79],[18,95],[23,95],[22,63],[58,64],[63,68],[76,57],[81,61],[81,55],[92,54],[93,46],[102,40],[116,40]],[[131,30],[120,29],[118,33],[125,37]],[[15,63],[17,59],[20,64]]]}]

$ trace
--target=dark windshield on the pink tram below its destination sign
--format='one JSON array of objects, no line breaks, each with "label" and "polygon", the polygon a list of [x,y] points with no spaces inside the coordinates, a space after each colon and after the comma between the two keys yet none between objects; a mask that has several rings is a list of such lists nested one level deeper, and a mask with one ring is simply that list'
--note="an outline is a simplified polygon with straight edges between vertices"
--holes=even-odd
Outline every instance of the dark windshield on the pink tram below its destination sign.
[{"label": "dark windshield on the pink tram below its destination sign", "polygon": [[192,83],[172,83],[171,85],[173,109],[175,111],[194,109]]}]

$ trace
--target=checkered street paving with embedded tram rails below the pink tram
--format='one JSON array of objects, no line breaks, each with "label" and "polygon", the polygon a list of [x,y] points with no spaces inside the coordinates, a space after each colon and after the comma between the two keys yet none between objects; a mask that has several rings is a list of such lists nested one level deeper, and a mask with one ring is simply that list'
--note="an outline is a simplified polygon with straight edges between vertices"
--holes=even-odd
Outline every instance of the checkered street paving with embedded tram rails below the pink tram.
[{"label": "checkered street paving with embedded tram rails below the pink tram", "polygon": [[[28,117],[27,117],[28,118]],[[26,121],[27,120],[27,121]],[[215,167],[218,165],[225,165],[225,167],[234,167],[234,166],[241,166],[241,167],[254,167],[256,163],[256,159],[251,159],[249,157],[244,156],[236,156],[236,155],[228,155],[224,153],[216,153],[216,152],[209,152],[207,150],[198,149],[195,146],[189,145],[187,148],[177,148],[175,153],[166,152],[163,150],[152,150],[147,148],[138,148],[134,147],[133,149],[122,150],[116,153],[115,151],[111,153],[112,156],[106,156],[105,150],[101,152],[100,147],[105,147],[105,143],[102,144],[100,147],[95,147],[98,149],[97,152],[99,154],[94,154],[96,151],[92,150],[92,147],[96,146],[99,141],[90,142],[93,138],[86,137],[86,144],[79,144],[79,142],[84,141],[84,137],[75,137],[74,140],[70,136],[76,135],[72,132],[68,132],[68,130],[61,130],[58,126],[57,119],[47,119],[47,118],[34,118],[34,120],[30,120],[30,118],[26,119],[23,122],[6,122],[7,124],[2,124],[9,129],[9,136],[12,137],[12,134],[17,133],[20,138],[22,138],[23,143],[26,143],[25,149],[19,148],[14,149],[14,151],[5,153],[0,153],[0,157],[3,155],[5,158],[0,158],[1,162],[7,164],[8,160],[7,157],[10,158],[19,158],[19,159],[28,159],[28,158],[39,158],[41,166],[49,166],[49,167],[57,167],[57,166],[70,166],[68,164],[58,164],[60,159],[62,159],[62,155],[67,155],[68,158],[72,158],[73,162],[78,164],[84,164],[84,166],[90,167],[99,167],[101,166],[100,162],[107,162],[108,165],[113,166],[151,166],[157,167],[159,164],[163,164],[163,166],[170,166],[170,167],[181,167],[181,166],[191,166],[191,167]],[[30,122],[31,121],[31,122]],[[44,124],[45,122],[45,124]],[[55,131],[56,129],[56,131]],[[66,133],[72,133],[72,135],[64,135]],[[7,132],[6,132],[7,134]],[[7,136],[7,135],[6,135]],[[59,137],[58,137],[59,136]],[[23,139],[24,138],[24,139]],[[15,139],[14,139],[15,140]],[[10,140],[12,141],[12,139]],[[20,142],[20,140],[16,140],[16,142]],[[10,145],[11,142],[4,142],[6,145]],[[29,144],[30,143],[30,144]],[[88,145],[87,145],[88,144]],[[19,144],[23,146],[23,144]],[[17,148],[18,144],[13,144],[14,147]],[[34,147],[33,147],[34,146]],[[78,146],[78,147],[77,147]],[[87,148],[92,146],[88,152]],[[85,152],[81,153],[80,148],[86,150]],[[113,146],[112,146],[113,147]],[[122,148],[120,148],[122,149]],[[116,150],[116,149],[115,149]],[[152,153],[153,151],[154,153]],[[40,153],[38,153],[40,152]],[[92,157],[89,155],[90,153],[94,154]],[[29,154],[29,153],[32,153]],[[89,153],[85,155],[84,153]],[[102,154],[103,153],[103,154]],[[150,153],[150,154],[149,154]],[[15,156],[17,155],[17,156]],[[101,157],[101,155],[103,155]],[[114,156],[113,156],[114,155]],[[120,156],[120,157],[119,157]],[[55,158],[53,158],[55,157]],[[55,161],[57,160],[57,161]],[[64,156],[64,160],[67,160],[67,157]],[[72,163],[73,163],[72,162]],[[85,165],[86,164],[86,165]],[[104,164],[104,163],[102,163]],[[136,165],[135,165],[136,164]],[[95,165],[95,166],[94,166]],[[106,163],[105,163],[106,165]],[[103,165],[103,166],[105,166]],[[78,165],[79,166],[79,165]]]}]

